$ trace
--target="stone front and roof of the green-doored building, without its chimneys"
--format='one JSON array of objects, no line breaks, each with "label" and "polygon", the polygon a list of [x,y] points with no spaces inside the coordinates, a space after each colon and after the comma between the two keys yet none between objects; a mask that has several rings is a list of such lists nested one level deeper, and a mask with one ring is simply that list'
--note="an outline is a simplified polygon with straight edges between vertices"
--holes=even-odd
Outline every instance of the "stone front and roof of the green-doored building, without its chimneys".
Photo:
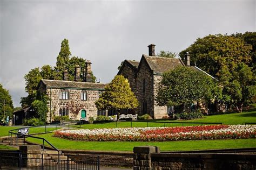
[{"label": "stone front and roof of the green-doored building, without its chimneys", "polygon": [[[63,108],[66,109],[66,105],[70,102],[75,104],[82,103],[82,108],[79,114],[74,114],[70,110],[68,115],[73,120],[88,119],[89,117],[97,117],[98,110],[95,102],[98,100],[98,96],[104,91],[105,84],[103,83],[89,83],[89,82],[73,82],[73,81],[60,81],[60,80],[41,80],[39,83],[39,91],[46,94],[49,97],[47,113],[47,121],[51,122],[54,116],[59,116]],[[62,99],[59,95],[62,95],[62,90],[68,92],[69,97]],[[86,93],[86,100],[82,100],[81,93]],[[85,117],[82,117],[82,111],[85,112]],[[50,114],[52,113],[52,114]]]}]

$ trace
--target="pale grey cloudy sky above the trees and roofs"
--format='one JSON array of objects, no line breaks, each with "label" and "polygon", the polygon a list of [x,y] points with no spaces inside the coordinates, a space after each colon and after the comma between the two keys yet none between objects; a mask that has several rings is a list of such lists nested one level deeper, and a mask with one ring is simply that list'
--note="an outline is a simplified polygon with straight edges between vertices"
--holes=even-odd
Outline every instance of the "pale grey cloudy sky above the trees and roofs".
[{"label": "pale grey cloudy sky above the trees and roofs", "polygon": [[180,52],[208,34],[256,31],[255,2],[0,0],[0,83],[20,106],[24,75],[55,66],[64,38],[108,83],[120,62],[139,61],[149,44],[156,53]]}]

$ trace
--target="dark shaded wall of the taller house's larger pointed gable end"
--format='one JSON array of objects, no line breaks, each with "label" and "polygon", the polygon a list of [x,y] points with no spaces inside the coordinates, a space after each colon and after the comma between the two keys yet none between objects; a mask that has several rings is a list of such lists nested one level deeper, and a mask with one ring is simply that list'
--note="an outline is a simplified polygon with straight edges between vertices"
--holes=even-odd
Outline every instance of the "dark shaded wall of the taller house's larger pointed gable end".
[{"label": "dark shaded wall of the taller house's larger pointed gable end", "polygon": [[[143,91],[143,80],[145,80],[145,93]],[[139,115],[143,115],[143,101],[147,102],[147,114],[154,117],[154,98],[153,98],[153,74],[145,59],[140,61],[140,68],[137,73],[137,93],[139,101]]]}]

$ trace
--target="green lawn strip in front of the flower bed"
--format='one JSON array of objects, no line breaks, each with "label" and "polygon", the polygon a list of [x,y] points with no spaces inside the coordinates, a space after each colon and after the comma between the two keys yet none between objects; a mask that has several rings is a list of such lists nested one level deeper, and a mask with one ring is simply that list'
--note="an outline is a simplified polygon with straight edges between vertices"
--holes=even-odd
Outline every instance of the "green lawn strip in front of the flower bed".
[{"label": "green lawn strip in front of the flower bed", "polygon": [[[41,134],[40,137],[51,144],[68,150],[98,150],[98,151],[132,151],[134,146],[159,146],[161,151],[189,151],[224,148],[248,148],[256,146],[256,139],[226,139],[226,140],[189,140],[163,142],[132,142],[132,141],[73,141],[52,136],[53,133]],[[42,144],[41,140],[27,138],[33,143]]]}]

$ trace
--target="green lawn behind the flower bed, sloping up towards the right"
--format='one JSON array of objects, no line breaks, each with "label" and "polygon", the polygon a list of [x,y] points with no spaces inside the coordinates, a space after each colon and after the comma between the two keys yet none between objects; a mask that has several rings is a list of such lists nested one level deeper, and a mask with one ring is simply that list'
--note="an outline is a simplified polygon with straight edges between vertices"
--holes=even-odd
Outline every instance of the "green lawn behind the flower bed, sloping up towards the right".
[{"label": "green lawn behind the flower bed, sloping up towards the right", "polygon": [[[156,121],[156,120],[153,120]],[[208,123],[223,123],[223,124],[244,124],[245,122],[252,123],[256,122],[256,109],[251,109],[250,111],[245,111],[242,113],[233,113],[233,114],[220,114],[212,116],[204,116],[200,119],[188,120],[188,121],[158,121],[159,123],[154,122],[132,122],[132,127],[158,127],[158,126],[182,126],[182,123],[160,123],[160,122],[208,122]],[[201,124],[184,124],[184,126],[191,125],[201,125]],[[72,126],[79,129],[79,125]],[[99,124],[84,124],[81,125],[81,129],[95,129],[95,128],[130,128],[131,122],[111,122],[111,123],[99,123]]]}]

